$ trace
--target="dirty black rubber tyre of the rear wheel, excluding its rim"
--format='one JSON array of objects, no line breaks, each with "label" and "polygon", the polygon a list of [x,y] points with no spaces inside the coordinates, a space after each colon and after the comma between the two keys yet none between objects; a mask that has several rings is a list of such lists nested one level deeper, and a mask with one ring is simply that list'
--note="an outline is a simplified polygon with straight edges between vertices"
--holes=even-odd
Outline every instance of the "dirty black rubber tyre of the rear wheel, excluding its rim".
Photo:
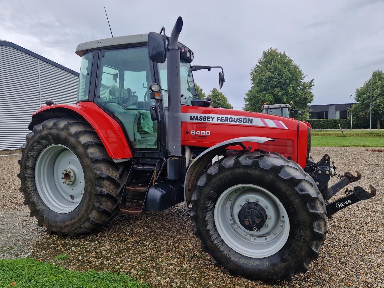
[{"label": "dirty black rubber tyre of the rear wheel, excluding its rim", "polygon": [[[43,149],[51,144],[61,144],[79,159],[84,172],[83,197],[78,206],[68,213],[57,213],[41,199],[35,183],[35,165]],[[49,233],[60,236],[91,232],[108,221],[119,211],[121,194],[119,186],[123,174],[108,156],[101,140],[91,125],[81,119],[48,119],[36,125],[26,136],[18,159],[21,180],[20,191],[24,205],[28,205],[31,217]]]}]

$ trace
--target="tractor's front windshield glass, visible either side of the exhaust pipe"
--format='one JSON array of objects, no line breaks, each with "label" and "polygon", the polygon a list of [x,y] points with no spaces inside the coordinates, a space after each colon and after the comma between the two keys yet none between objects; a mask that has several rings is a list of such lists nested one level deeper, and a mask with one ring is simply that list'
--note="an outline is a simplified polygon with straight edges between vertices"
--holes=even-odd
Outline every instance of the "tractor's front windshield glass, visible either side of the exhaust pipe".
[{"label": "tractor's front windshield glass, visible either side of the exhaust pipe", "polygon": [[[160,81],[163,94],[164,107],[168,106],[168,78],[167,78],[167,60],[159,63]],[[180,60],[180,98],[182,105],[191,105],[191,100],[197,98],[195,83],[193,81],[190,64]]]}]

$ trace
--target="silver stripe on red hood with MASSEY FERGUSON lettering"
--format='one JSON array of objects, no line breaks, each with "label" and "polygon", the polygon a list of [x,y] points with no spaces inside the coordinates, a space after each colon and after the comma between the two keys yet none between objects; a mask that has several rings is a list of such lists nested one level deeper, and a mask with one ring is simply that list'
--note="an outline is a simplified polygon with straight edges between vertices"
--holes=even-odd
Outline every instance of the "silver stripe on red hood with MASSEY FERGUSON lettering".
[{"label": "silver stripe on red hood with MASSEY FERGUSON lettering", "polygon": [[[182,122],[194,123],[219,123],[219,124],[238,124],[248,126],[267,126],[275,127],[277,125],[271,119],[255,118],[247,116],[220,115],[220,114],[197,114],[197,113],[181,113]],[[288,129],[282,121],[279,121],[284,129]]]}]

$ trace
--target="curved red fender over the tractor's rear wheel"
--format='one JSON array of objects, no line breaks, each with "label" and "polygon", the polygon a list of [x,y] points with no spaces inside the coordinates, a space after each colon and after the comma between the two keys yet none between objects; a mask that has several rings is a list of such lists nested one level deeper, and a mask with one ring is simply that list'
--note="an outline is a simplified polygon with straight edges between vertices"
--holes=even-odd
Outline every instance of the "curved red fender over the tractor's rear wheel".
[{"label": "curved red fender over the tractor's rear wheel", "polygon": [[93,102],[43,106],[32,115],[32,121],[28,129],[32,130],[35,125],[47,119],[65,117],[88,121],[100,137],[108,155],[112,159],[122,161],[133,157],[120,124]]}]

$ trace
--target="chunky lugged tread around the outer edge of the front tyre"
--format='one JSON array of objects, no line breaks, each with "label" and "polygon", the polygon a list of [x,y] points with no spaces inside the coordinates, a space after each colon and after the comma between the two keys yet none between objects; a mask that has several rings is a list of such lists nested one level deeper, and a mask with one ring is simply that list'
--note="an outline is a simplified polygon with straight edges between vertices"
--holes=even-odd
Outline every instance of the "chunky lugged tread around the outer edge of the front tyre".
[{"label": "chunky lugged tread around the outer edge of the front tyre", "polygon": [[[268,158],[266,158],[268,157]],[[266,161],[263,161],[266,159]],[[310,175],[308,175],[296,162],[286,159],[284,156],[272,152],[266,152],[261,150],[255,150],[254,152],[238,152],[227,156],[220,162],[215,162],[212,166],[209,167],[207,172],[203,174],[198,180],[197,186],[195,188],[194,194],[192,195],[191,203],[192,208],[190,210],[190,218],[194,222],[194,234],[200,239],[202,243],[202,250],[206,253],[210,253],[204,244],[204,237],[202,237],[204,229],[202,225],[199,225],[199,221],[196,216],[196,209],[203,209],[199,207],[199,187],[205,185],[209,182],[210,179],[217,173],[222,172],[225,169],[228,169],[233,166],[252,166],[257,167],[258,169],[263,169],[269,173],[279,175],[283,179],[290,181],[295,184],[295,189],[307,202],[308,211],[312,214],[313,219],[313,235],[314,239],[310,249],[310,255],[305,262],[300,263],[293,270],[288,271],[287,273],[280,275],[279,277],[270,277],[271,275],[266,275],[263,279],[264,281],[274,281],[278,278],[284,279],[286,281],[291,281],[292,276],[296,275],[298,272],[306,272],[308,270],[308,265],[318,258],[319,250],[323,245],[324,239],[326,238],[326,209],[324,204],[324,199],[321,193],[317,189],[317,185]],[[303,189],[305,185],[314,188],[316,193],[313,191],[308,191]],[[321,207],[321,209],[319,209]],[[215,259],[217,264],[225,266],[225,263],[221,261],[220,258]],[[240,274],[238,271],[231,269],[228,266],[225,266],[228,269],[231,275]],[[245,275],[247,278],[252,279],[252,275]]]}]

